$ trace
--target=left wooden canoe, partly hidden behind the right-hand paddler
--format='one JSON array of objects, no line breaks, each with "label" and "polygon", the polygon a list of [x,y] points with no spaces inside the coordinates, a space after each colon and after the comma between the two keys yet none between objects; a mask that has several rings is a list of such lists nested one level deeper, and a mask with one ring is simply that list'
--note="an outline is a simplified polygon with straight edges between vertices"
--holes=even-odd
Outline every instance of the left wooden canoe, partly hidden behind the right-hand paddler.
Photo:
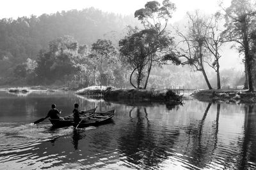
[{"label": "left wooden canoe, partly hidden behind the right-hand paddler", "polygon": [[[83,113],[83,115],[80,115],[81,118],[88,118],[88,117],[92,117],[94,115],[94,112],[96,108],[93,108],[91,110],[86,110],[86,111],[81,111],[81,113]],[[49,118],[50,122],[52,123],[52,125],[54,127],[68,127],[70,125],[74,124],[74,117],[73,115],[69,115],[67,117],[64,117],[64,120],[60,120],[60,119],[51,119]]]}]

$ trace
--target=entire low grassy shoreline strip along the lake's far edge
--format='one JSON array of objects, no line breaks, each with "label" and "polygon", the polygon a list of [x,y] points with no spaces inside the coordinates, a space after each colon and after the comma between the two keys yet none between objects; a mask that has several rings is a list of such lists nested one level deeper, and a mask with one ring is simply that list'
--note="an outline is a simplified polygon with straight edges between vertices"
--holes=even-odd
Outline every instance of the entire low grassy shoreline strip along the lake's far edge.
[{"label": "entire low grassy shoreline strip along the lake's far edge", "polygon": [[102,97],[106,101],[152,101],[152,102],[166,102],[166,103],[182,103],[182,99],[196,99],[205,102],[225,102],[230,104],[239,103],[256,103],[256,93],[248,92],[248,90],[237,89],[202,89],[195,90],[189,96],[180,96],[175,94],[172,90],[166,89],[115,89],[113,87],[99,86],[86,87],[84,89],[74,89],[71,87],[60,86],[31,86],[31,87],[12,87],[2,86],[0,90],[6,90],[13,93],[29,93],[35,90],[42,90],[47,92],[55,91],[72,91],[79,96],[88,97]]}]

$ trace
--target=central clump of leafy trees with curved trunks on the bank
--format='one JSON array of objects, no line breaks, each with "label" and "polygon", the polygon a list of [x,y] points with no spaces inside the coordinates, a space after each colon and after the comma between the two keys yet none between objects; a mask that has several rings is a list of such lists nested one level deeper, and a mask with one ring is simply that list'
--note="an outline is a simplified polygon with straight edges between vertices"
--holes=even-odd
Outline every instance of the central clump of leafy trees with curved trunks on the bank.
[{"label": "central clump of leafy trees with curved trunks on the bank", "polygon": [[[141,82],[146,74],[142,87],[146,89],[152,66],[155,63],[160,64],[164,59],[175,58],[175,56],[164,57],[164,52],[170,52],[173,46],[173,37],[166,27],[175,9],[175,4],[168,0],[164,0],[162,6],[157,1],[147,2],[145,8],[134,13],[134,17],[140,20],[143,29],[130,27],[127,36],[119,41],[122,62],[132,67],[130,83],[134,88],[141,88]],[[144,71],[145,67],[147,71]],[[134,71],[137,71],[136,86],[131,81]]]}]

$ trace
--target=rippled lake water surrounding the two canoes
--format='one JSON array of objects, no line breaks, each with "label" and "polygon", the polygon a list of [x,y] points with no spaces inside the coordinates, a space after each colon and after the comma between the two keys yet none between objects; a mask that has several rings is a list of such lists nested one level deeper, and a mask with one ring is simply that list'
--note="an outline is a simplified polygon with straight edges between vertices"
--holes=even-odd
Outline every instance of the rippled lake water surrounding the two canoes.
[{"label": "rippled lake water surrounding the two canoes", "polygon": [[[116,110],[113,121],[74,131],[52,129],[56,103],[69,115]],[[72,92],[0,91],[0,169],[255,169],[256,106],[186,100],[105,102]]]}]

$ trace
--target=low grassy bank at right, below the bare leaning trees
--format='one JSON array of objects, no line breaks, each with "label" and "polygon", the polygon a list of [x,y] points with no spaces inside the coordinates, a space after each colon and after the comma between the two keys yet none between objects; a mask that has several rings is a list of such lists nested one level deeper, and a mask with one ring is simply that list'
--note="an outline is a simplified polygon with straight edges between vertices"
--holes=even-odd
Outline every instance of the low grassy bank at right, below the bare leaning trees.
[{"label": "low grassy bank at right, below the bare leaning trees", "polygon": [[256,103],[255,92],[247,92],[247,90],[237,89],[211,89],[211,90],[196,90],[191,94],[200,101],[220,101],[226,103]]}]

